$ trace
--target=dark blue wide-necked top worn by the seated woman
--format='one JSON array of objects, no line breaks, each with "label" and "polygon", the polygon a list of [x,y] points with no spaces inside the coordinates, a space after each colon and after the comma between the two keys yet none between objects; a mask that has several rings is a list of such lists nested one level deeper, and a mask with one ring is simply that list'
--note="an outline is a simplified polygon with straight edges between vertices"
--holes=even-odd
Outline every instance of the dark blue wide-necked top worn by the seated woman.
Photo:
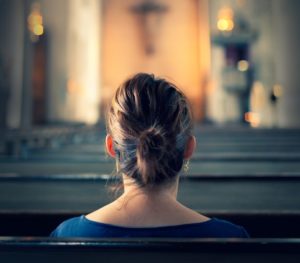
[{"label": "dark blue wide-necked top worn by the seated woman", "polygon": [[247,231],[228,221],[212,218],[202,223],[161,226],[121,227],[98,223],[84,215],[62,222],[51,237],[249,237]]}]

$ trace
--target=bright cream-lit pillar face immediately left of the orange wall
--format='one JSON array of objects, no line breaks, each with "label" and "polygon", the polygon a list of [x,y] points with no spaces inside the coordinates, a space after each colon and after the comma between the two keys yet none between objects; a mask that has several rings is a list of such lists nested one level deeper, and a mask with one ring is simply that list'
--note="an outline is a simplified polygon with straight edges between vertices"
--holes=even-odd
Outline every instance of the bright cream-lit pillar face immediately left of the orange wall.
[{"label": "bright cream-lit pillar face immediately left of the orange wall", "polygon": [[94,124],[99,117],[101,1],[69,1],[65,116]]}]

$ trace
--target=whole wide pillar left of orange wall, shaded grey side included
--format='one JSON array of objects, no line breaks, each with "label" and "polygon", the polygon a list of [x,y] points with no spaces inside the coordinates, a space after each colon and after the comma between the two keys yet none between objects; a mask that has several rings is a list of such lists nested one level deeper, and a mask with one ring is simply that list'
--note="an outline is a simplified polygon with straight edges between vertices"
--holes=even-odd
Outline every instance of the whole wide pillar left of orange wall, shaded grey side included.
[{"label": "whole wide pillar left of orange wall, shaded grey side included", "polygon": [[100,93],[101,2],[41,0],[48,32],[48,119],[96,123]]}]

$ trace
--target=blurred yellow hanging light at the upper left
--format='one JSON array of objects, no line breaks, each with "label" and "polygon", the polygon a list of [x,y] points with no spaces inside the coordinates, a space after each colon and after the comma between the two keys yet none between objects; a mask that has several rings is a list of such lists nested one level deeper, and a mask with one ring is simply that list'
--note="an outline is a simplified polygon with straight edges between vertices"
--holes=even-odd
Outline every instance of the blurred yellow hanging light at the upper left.
[{"label": "blurred yellow hanging light at the upper left", "polygon": [[39,36],[44,34],[43,17],[40,9],[40,4],[34,3],[27,19],[31,40],[34,42],[38,40]]}]

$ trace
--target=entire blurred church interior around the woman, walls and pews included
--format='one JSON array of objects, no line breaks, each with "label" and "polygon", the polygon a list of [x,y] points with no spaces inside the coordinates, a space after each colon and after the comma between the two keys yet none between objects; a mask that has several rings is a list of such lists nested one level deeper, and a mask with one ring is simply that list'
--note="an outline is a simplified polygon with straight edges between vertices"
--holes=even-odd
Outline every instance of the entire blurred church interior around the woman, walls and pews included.
[{"label": "entire blurred church interior around the woman, walls and pews included", "polygon": [[48,236],[110,201],[105,112],[137,72],[166,77],[192,106],[198,146],[178,199],[299,248],[299,11],[298,0],[0,0],[0,258],[2,236]]}]

